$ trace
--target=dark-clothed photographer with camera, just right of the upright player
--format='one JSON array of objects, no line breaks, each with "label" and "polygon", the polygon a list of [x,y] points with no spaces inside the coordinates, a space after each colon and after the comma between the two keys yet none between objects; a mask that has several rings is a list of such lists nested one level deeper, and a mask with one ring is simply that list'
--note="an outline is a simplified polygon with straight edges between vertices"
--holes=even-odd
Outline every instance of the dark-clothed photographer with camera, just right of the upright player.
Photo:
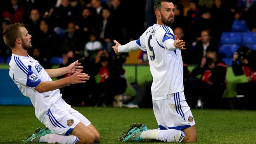
[{"label": "dark-clothed photographer with camera, just right of the upright player", "polygon": [[192,70],[185,90],[186,95],[190,95],[187,97],[190,100],[190,107],[196,105],[198,108],[219,108],[220,100],[227,88],[226,73],[227,66],[218,60],[217,51],[207,51],[206,57],[203,57],[201,63]]}]

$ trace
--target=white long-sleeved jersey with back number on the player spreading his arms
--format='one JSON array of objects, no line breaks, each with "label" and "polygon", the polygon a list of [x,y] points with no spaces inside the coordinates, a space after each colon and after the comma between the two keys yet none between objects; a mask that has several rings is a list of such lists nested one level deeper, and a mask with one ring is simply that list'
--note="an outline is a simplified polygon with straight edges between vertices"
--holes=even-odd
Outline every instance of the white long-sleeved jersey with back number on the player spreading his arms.
[{"label": "white long-sleeved jersey with back number on the player spreading his arms", "polygon": [[[166,40],[175,41],[173,30],[168,26],[154,24],[147,28],[139,39],[133,41],[136,44],[130,44],[147,51],[153,77],[151,87],[153,100],[163,100],[167,98],[168,93],[184,91],[181,50],[166,49],[164,46]],[[122,51],[126,48],[125,45],[119,47],[121,47],[120,52],[125,52]]]}]

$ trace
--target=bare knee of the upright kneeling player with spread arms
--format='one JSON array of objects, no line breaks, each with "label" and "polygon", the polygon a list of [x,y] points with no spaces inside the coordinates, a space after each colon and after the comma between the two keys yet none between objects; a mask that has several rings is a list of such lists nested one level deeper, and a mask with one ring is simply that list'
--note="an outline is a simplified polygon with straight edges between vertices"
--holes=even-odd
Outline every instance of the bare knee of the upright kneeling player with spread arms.
[{"label": "bare knee of the upright kneeling player with spread arms", "polygon": [[193,125],[190,128],[186,128],[183,130],[185,132],[185,137],[183,138],[182,142],[197,142],[197,130],[196,130],[196,125]]}]

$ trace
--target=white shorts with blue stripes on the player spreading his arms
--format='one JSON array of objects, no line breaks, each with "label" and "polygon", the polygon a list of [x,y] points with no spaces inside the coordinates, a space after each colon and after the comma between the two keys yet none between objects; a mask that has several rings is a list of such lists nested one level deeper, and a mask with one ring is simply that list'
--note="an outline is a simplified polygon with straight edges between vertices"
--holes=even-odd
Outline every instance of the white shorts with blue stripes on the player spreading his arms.
[{"label": "white shorts with blue stripes on the player spreading his arms", "polygon": [[165,100],[153,100],[153,110],[161,130],[184,130],[196,124],[184,92],[168,94]]}]

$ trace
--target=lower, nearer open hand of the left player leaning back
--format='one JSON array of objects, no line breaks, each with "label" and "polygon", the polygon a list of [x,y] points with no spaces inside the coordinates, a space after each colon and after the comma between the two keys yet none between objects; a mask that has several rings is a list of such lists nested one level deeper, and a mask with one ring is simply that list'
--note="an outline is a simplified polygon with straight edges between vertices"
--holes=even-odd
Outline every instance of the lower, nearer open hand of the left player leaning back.
[{"label": "lower, nearer open hand of the left player leaning back", "polygon": [[70,77],[71,84],[78,84],[78,83],[86,83],[89,80],[90,76],[88,74],[82,73],[82,70],[72,74]]}]

